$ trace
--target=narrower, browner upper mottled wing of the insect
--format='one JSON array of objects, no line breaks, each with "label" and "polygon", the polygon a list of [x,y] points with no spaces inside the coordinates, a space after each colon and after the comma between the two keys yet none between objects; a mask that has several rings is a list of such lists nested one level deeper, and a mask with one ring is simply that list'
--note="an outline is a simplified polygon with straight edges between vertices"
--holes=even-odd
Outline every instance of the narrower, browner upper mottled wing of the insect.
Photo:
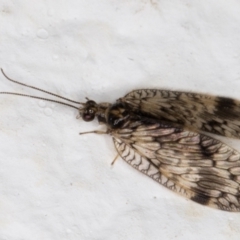
[{"label": "narrower, browner upper mottled wing of the insect", "polygon": [[141,89],[119,99],[135,113],[189,130],[240,138],[240,101],[210,95]]}]

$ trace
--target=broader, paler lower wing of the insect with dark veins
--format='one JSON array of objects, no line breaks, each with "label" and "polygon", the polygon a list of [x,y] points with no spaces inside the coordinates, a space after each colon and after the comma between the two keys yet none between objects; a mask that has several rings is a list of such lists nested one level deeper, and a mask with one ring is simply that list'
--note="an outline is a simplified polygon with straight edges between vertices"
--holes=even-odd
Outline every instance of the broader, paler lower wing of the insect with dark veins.
[{"label": "broader, paler lower wing of the insect with dark veins", "polygon": [[240,211],[240,154],[211,137],[162,124],[112,133],[119,155],[167,188],[203,205]]}]

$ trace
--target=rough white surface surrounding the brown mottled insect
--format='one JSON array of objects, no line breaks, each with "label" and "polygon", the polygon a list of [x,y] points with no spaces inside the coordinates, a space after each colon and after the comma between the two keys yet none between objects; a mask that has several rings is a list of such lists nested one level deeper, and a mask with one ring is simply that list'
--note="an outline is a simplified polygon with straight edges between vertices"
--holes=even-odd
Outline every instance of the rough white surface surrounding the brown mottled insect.
[{"label": "rough white surface surrounding the brown mottled insect", "polygon": [[[85,101],[137,88],[239,98],[238,0],[0,2],[0,66]],[[36,94],[0,76],[0,91]],[[239,239],[240,213],[201,206],[116,156],[77,110],[0,96],[0,240]],[[240,150],[238,141],[224,139]]]}]

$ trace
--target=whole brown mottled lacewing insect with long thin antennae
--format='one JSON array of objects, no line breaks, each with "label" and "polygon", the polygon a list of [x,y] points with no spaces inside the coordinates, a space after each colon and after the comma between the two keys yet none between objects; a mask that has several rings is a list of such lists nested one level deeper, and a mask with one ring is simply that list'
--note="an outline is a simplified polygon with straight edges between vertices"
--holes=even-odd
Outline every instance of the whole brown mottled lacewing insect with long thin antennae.
[{"label": "whole brown mottled lacewing insect with long thin antennae", "polygon": [[[84,121],[97,119],[112,136],[118,155],[165,187],[206,206],[240,211],[240,153],[208,136],[240,138],[240,101],[210,95],[157,89],[134,90],[114,104],[87,99],[80,107],[21,93],[0,92],[52,101],[78,109]],[[82,133],[83,134],[83,133]]]}]

